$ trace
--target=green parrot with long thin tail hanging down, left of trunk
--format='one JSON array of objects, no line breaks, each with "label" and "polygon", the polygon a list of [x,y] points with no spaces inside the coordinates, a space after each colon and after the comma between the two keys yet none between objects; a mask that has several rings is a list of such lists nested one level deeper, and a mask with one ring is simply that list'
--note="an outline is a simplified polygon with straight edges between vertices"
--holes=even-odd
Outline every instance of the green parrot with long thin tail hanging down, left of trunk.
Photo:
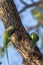
[{"label": "green parrot with long thin tail hanging down, left of trunk", "polygon": [[7,60],[8,60],[8,65],[9,65],[9,58],[8,58],[8,50],[7,50],[7,45],[10,42],[10,36],[14,32],[14,26],[8,27],[5,32],[3,33],[3,43],[4,43],[4,49],[6,49],[6,55],[7,55]]}]

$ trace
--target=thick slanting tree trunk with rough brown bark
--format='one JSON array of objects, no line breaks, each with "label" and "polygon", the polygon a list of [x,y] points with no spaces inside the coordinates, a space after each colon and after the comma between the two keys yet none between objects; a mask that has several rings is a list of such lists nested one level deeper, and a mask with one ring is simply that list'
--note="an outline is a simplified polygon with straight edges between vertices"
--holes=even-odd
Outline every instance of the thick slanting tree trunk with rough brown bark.
[{"label": "thick slanting tree trunk with rough brown bark", "polygon": [[0,17],[5,28],[15,25],[11,40],[23,57],[22,65],[43,65],[43,56],[37,47],[31,48],[31,39],[21,23],[13,0],[0,0]]}]

